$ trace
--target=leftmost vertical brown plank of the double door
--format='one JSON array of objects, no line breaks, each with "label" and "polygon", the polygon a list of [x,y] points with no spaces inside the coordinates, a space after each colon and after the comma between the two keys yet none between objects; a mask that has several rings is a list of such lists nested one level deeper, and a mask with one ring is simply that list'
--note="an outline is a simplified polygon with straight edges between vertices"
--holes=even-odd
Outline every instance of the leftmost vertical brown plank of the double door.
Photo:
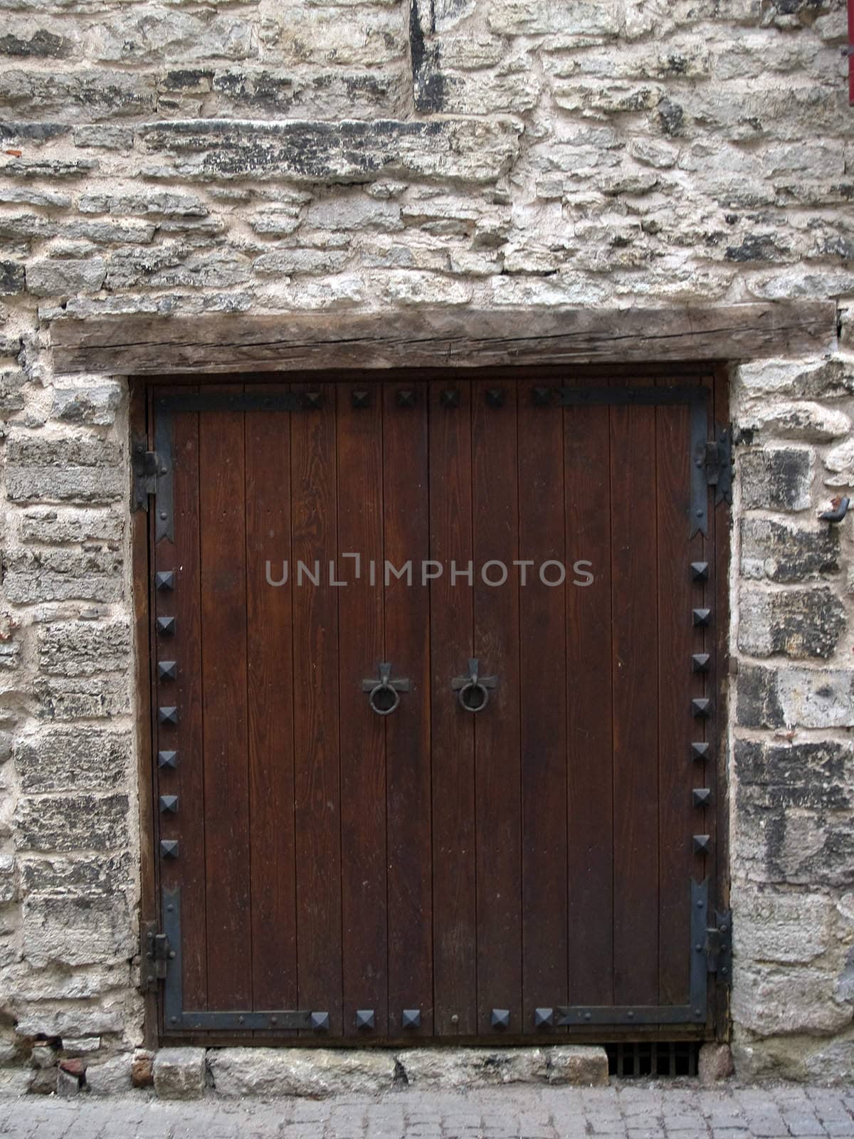
[{"label": "leftmost vertical brown plank of the double door", "polygon": [[[176,388],[158,388],[154,399]],[[196,392],[197,388],[180,391]],[[175,680],[155,686],[155,720],[159,706],[176,707],[176,726],[156,724],[156,749],[175,752],[174,767],[157,768],[157,796],[176,795],[178,813],[157,811],[156,841],[175,839],[178,859],[159,859],[161,885],[181,890],[181,957],[183,1001],[187,1009],[207,1002],[206,818],[203,737],[202,571],[199,549],[199,416],[172,416],[174,541],[155,547],[154,568],[174,574],[174,588],[155,590],[153,617],[174,617],[174,634],[155,632],[157,662],[174,661]],[[156,669],[155,669],[156,675]],[[155,760],[155,763],[157,761]],[[158,846],[156,847],[159,849]],[[213,899],[216,904],[215,898]],[[170,1025],[165,1025],[169,1031]]]}]

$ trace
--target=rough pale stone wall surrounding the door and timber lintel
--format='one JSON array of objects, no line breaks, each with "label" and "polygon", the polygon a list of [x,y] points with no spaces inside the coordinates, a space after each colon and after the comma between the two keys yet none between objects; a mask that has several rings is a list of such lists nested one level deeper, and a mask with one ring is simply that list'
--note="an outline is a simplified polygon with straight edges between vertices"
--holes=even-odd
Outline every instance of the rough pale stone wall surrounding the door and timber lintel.
[{"label": "rough pale stone wall surrounding the door and timber lintel", "polygon": [[55,321],[835,298],[838,357],[733,371],[733,1018],[746,1075],[854,1076],[843,0],[0,16],[0,1059],[141,1039],[128,385]]}]

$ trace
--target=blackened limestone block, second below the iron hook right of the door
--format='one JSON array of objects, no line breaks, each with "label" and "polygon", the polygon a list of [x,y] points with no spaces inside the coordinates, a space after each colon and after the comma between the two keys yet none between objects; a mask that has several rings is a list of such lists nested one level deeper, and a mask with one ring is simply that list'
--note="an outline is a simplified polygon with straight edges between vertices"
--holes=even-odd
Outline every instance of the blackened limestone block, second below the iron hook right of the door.
[{"label": "blackened limestone block, second below the iron hook right of the door", "polygon": [[749,656],[832,656],[845,632],[845,605],[827,588],[741,587],[738,647]]}]

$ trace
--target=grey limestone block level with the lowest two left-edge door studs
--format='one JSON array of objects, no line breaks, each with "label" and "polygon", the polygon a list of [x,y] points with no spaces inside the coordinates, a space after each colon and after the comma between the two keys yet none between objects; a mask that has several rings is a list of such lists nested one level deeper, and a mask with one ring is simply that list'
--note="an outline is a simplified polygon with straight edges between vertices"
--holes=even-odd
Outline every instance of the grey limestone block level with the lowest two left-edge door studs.
[{"label": "grey limestone block level with the lowest two left-edge door studs", "polygon": [[128,842],[124,794],[23,795],[15,810],[23,851],[104,851]]}]

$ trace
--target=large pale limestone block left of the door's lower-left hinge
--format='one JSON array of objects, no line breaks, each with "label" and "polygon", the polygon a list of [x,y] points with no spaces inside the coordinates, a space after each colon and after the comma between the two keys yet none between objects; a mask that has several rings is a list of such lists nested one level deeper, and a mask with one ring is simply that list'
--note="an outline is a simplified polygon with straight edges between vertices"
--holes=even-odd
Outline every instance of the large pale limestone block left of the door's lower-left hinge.
[{"label": "large pale limestone block left of the door's lower-left hinge", "polygon": [[24,899],[23,953],[33,968],[115,964],[134,952],[124,898]]}]

